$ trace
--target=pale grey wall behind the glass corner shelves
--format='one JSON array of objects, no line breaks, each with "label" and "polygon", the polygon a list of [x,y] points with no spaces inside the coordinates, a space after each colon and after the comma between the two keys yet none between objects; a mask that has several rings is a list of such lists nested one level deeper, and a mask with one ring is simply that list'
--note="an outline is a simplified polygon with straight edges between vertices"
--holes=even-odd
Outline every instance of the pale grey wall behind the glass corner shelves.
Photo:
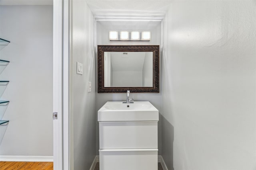
[{"label": "pale grey wall behind the glass corner shelves", "polygon": [[0,51],[10,61],[0,75],[10,80],[0,155],[53,156],[52,18],[52,6],[0,6],[0,38],[11,41]]}]

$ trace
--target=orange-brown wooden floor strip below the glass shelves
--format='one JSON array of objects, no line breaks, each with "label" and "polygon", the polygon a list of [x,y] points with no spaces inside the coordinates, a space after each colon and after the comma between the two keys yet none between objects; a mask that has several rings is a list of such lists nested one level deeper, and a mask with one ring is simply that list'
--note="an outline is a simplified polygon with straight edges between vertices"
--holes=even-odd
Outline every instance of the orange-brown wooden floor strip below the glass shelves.
[{"label": "orange-brown wooden floor strip below the glass shelves", "polygon": [[53,162],[2,162],[0,170],[53,170]]}]

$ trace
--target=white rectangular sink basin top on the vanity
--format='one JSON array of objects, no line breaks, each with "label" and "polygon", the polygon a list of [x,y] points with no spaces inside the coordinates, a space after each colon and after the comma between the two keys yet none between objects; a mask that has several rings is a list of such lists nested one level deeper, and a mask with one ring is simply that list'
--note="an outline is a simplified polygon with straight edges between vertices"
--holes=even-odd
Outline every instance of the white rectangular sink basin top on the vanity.
[{"label": "white rectangular sink basin top on the vanity", "polygon": [[158,109],[148,101],[123,104],[106,102],[98,110],[98,121],[158,121]]}]

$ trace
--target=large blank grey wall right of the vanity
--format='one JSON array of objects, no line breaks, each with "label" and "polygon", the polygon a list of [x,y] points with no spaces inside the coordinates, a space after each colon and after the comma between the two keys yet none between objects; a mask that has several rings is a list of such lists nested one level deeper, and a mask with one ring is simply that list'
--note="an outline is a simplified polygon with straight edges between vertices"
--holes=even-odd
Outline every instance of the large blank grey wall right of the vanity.
[{"label": "large blank grey wall right of the vanity", "polygon": [[168,170],[256,168],[256,1],[174,1],[164,18]]}]

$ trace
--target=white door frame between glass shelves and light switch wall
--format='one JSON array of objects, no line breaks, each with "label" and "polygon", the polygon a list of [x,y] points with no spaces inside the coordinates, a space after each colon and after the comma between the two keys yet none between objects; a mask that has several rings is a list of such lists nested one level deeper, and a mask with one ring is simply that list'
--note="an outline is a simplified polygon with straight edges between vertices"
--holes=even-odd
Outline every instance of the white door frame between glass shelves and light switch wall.
[{"label": "white door frame between glass shelves and light switch wall", "polygon": [[53,1],[53,161],[54,170],[69,170],[70,158],[70,27],[69,0]]}]

